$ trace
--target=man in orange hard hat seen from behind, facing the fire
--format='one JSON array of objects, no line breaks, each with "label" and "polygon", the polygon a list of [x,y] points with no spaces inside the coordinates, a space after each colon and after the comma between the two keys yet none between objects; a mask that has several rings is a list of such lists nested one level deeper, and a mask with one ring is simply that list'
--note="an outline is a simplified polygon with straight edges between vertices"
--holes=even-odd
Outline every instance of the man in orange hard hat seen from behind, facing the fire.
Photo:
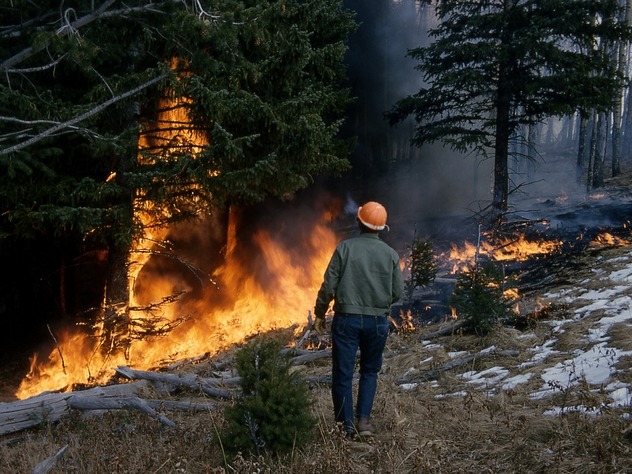
[{"label": "man in orange hard hat seen from behind, facing the fire", "polygon": [[[334,300],[332,337],[332,386],[336,421],[347,436],[370,436],[373,399],[382,353],[388,335],[391,305],[404,291],[399,255],[382,241],[378,232],[386,228],[386,209],[367,202],[358,209],[360,235],[336,247],[325,271],[314,308],[314,328],[325,329],[325,313]],[[356,352],[360,349],[360,383],[353,416],[352,382]]]}]

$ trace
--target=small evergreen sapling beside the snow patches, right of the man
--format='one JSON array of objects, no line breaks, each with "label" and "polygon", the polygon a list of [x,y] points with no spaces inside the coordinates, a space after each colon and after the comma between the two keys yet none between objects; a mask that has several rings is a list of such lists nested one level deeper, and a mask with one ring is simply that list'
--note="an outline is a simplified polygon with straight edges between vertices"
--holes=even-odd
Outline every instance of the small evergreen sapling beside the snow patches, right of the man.
[{"label": "small evergreen sapling beside the snow patches, right of the man", "polygon": [[502,269],[492,262],[476,265],[459,274],[450,304],[467,326],[486,334],[494,325],[511,316],[505,297],[507,281]]}]

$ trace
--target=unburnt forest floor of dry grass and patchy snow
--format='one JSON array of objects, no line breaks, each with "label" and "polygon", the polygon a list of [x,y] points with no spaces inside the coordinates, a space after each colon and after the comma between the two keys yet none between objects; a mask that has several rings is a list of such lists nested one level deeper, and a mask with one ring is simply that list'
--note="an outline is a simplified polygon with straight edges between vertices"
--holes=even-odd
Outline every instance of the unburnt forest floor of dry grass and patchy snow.
[{"label": "unburnt forest floor of dry grass and patchy snow", "polygon": [[[629,200],[629,178],[609,183],[613,199]],[[316,383],[312,444],[284,456],[229,457],[220,433],[223,408],[232,402],[189,389],[169,395],[148,389],[148,398],[206,400],[210,408],[165,411],[174,427],[135,411],[73,411],[0,438],[0,472],[33,472],[64,447],[51,470],[40,472],[632,472],[631,240],[603,241],[565,259],[554,278],[521,297],[520,326],[485,336],[433,335],[452,321],[393,331],[370,438],[340,434],[329,386]],[[212,376],[235,350],[181,364],[174,373]],[[295,370],[326,377],[330,360]]]}]

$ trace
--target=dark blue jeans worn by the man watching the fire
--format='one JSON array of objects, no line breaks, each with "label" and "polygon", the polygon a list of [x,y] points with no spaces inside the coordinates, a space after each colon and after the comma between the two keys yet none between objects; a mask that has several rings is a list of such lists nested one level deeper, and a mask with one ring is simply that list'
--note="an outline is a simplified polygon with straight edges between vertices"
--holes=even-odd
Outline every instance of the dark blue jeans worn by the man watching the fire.
[{"label": "dark blue jeans worn by the man watching the fire", "polygon": [[358,418],[370,418],[387,336],[386,316],[336,313],[331,323],[331,396],[336,421],[344,423],[347,430],[354,427],[352,382],[356,352],[360,349],[356,415]]}]

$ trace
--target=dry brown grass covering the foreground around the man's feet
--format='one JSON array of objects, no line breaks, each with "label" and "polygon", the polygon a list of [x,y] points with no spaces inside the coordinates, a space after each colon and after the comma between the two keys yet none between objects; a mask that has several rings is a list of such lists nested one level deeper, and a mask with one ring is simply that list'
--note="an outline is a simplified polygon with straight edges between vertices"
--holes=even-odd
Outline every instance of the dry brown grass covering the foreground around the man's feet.
[{"label": "dry brown grass covering the foreground around the man's feet", "polygon": [[[537,333],[537,331],[536,331]],[[499,348],[525,349],[519,332],[503,329],[485,339],[453,336],[447,351]],[[536,338],[538,336],[535,336]],[[532,400],[537,383],[508,392],[474,390],[458,373],[446,373],[436,383],[403,390],[394,378],[410,367],[427,369],[437,361],[422,361],[429,352],[420,335],[394,335],[389,340],[384,374],[374,408],[379,434],[364,442],[343,439],[331,422],[329,388],[313,388],[318,417],[317,441],[305,452],[282,458],[223,455],[218,433],[221,409],[202,413],[169,413],[175,428],[135,412],[99,417],[73,413],[54,425],[7,437],[0,444],[0,472],[27,473],[60,447],[68,445],[52,472],[59,473],[612,473],[632,472],[632,436],[625,410],[597,417],[581,413],[544,416],[550,404],[600,403],[588,387],[550,400]],[[531,342],[533,343],[533,341]],[[520,356],[518,357],[520,359]],[[516,358],[491,357],[468,369],[513,366]],[[203,364],[200,370],[203,369]],[[325,373],[328,361],[302,368]],[[453,395],[457,392],[462,395]],[[180,394],[185,397],[192,394]],[[563,399],[562,399],[563,398]],[[590,400],[588,400],[590,398]],[[627,430],[627,431],[626,431]]]}]

